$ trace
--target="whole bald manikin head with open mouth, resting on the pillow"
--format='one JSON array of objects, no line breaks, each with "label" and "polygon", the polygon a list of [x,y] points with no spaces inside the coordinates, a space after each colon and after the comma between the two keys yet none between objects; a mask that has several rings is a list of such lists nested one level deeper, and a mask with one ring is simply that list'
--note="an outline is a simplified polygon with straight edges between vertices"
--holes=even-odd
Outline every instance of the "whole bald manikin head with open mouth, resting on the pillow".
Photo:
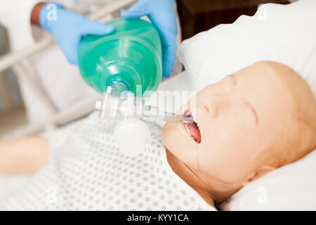
[{"label": "whole bald manikin head with open mouth, resting on the pillow", "polygon": [[198,159],[197,174],[211,193],[229,197],[316,148],[315,97],[279,63],[256,63],[206,86],[180,113],[187,110],[199,124],[190,129],[194,138],[183,124],[167,123],[164,145],[192,171]]}]

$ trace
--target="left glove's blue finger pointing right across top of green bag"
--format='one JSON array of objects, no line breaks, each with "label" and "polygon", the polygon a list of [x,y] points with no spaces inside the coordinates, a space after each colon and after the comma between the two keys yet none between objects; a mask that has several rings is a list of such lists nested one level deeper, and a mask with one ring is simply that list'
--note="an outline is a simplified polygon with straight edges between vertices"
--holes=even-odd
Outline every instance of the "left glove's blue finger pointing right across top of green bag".
[{"label": "left glove's blue finger pointing right across top of green bag", "polygon": [[114,30],[115,27],[113,25],[107,25],[95,20],[86,19],[82,32],[84,32],[84,34],[105,35],[111,34]]}]

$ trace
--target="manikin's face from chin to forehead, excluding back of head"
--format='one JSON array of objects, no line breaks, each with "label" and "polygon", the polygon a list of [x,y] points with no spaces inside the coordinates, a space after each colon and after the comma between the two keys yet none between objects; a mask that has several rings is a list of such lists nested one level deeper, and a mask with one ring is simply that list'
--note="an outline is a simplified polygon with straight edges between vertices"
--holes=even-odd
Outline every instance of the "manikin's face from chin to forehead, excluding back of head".
[{"label": "manikin's face from chin to forehead, excluding back of head", "polygon": [[[191,106],[190,106],[191,105]],[[194,105],[194,107],[192,107]],[[206,86],[178,113],[187,110],[199,125],[165,124],[166,148],[206,183],[242,184],[256,157],[289,119],[291,97],[268,63],[257,63]]]}]

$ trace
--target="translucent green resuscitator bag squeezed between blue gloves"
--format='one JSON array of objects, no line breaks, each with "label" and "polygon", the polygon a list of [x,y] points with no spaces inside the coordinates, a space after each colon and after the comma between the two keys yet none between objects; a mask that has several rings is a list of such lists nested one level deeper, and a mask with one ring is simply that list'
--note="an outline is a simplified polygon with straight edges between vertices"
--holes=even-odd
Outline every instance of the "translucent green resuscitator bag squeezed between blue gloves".
[{"label": "translucent green resuscitator bag squeezed between blue gloves", "polygon": [[120,83],[136,94],[155,91],[162,80],[162,44],[156,28],[145,20],[113,20],[107,36],[88,35],[79,45],[79,69],[84,80],[103,93]]}]

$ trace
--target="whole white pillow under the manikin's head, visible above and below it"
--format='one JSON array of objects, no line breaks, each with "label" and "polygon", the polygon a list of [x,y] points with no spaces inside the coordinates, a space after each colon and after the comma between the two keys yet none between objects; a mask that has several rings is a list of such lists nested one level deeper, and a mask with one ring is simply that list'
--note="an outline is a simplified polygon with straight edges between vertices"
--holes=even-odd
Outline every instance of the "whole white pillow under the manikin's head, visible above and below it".
[{"label": "whole white pillow under the manikin's head, visible above and below it", "polygon": [[[266,4],[183,41],[178,58],[197,90],[261,60],[296,70],[316,96],[316,1]],[[316,151],[232,195],[222,210],[316,210]]]}]

